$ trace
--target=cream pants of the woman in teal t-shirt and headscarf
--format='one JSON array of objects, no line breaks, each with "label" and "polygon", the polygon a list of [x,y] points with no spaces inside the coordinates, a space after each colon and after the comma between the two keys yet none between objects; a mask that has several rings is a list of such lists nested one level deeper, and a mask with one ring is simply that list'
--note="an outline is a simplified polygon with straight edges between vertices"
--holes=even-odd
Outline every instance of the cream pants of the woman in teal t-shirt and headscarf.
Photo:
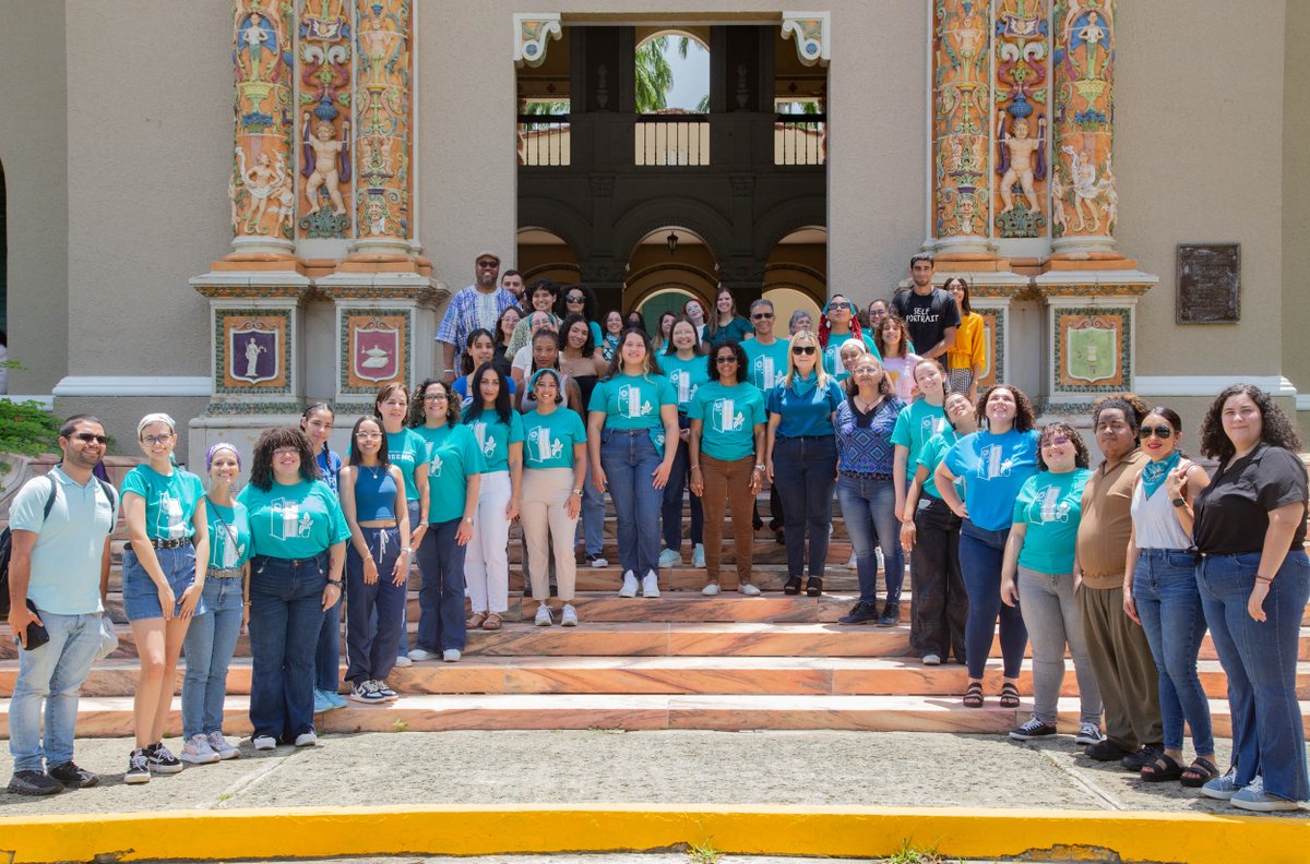
[{"label": "cream pants of the woman in teal t-shirt and headscarf", "polygon": [[532,596],[545,602],[550,597],[550,546],[555,551],[555,588],[559,600],[572,602],[578,583],[574,558],[574,531],[578,518],[569,516],[565,505],[572,495],[572,469],[532,469],[523,473],[523,500],[519,521],[528,542],[528,573]]}]

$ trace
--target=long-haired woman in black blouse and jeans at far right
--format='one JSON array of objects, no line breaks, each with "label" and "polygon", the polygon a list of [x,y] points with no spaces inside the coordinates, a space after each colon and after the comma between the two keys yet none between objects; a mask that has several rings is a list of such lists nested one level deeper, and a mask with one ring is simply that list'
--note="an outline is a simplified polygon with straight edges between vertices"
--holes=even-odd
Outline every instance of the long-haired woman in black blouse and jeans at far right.
[{"label": "long-haired woman in black blouse and jeans at far right", "polygon": [[1201,791],[1260,813],[1294,810],[1310,799],[1296,691],[1310,598],[1300,448],[1296,428],[1268,394],[1235,384],[1201,423],[1201,453],[1220,466],[1196,495],[1195,517],[1182,470],[1167,480],[1179,522],[1192,530],[1201,555],[1196,581],[1233,715],[1233,770]]}]

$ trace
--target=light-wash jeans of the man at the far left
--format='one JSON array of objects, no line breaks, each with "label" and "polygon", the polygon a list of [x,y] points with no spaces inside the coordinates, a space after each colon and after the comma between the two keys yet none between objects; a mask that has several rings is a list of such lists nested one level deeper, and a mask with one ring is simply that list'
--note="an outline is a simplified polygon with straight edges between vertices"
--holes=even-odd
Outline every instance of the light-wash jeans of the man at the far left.
[{"label": "light-wash jeans of the man at the far left", "polygon": [[37,615],[50,632],[50,641],[33,651],[18,649],[18,679],[9,700],[9,753],[16,774],[42,771],[42,757],[51,768],[72,762],[77,691],[100,648],[100,613],[56,615],[38,609]]}]

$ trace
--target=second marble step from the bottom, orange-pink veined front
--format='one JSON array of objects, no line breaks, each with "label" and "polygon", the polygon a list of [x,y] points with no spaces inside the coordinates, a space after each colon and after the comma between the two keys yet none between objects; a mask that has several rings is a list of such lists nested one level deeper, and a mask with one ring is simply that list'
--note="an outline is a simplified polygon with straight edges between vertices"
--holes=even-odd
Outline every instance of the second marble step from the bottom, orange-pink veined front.
[{"label": "second marble step from the bottom, orange-pink veined front", "polygon": [[[345,675],[346,665],[341,673]],[[1197,664],[1201,686],[1224,699],[1227,683],[1216,660]],[[0,661],[0,698],[13,695],[18,666]],[[84,696],[130,696],[140,678],[131,660],[97,664]],[[457,664],[415,664],[388,678],[401,694],[794,694],[959,696],[967,672],[958,664],[924,666],[912,657],[465,657]],[[174,691],[182,686],[177,673]],[[986,693],[1001,689],[1001,669],[988,669]],[[228,694],[249,695],[250,660],[228,669]],[[347,687],[343,685],[343,691]],[[1032,662],[1024,661],[1019,693],[1032,695]],[[1065,660],[1062,696],[1077,696],[1073,661]],[[1310,699],[1310,664],[1298,664],[1297,696]]]}]

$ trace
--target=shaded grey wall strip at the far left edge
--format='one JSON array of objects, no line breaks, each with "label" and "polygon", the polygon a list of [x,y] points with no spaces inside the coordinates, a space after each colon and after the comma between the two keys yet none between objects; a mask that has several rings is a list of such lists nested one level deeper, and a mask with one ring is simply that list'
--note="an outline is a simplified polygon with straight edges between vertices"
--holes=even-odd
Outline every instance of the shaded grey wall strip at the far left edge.
[{"label": "shaded grey wall strip at the far left edge", "polygon": [[0,164],[8,211],[9,393],[68,370],[68,131],[63,3],[0,0]]}]

